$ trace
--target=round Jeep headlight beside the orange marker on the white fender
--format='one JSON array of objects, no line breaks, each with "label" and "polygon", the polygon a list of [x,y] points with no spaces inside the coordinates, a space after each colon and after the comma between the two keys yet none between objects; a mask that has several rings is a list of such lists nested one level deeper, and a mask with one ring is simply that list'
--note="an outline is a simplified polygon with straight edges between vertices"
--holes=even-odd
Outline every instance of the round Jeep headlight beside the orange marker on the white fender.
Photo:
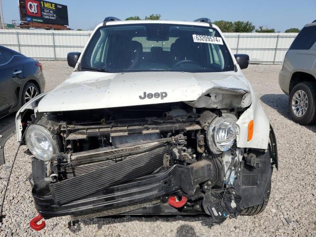
[{"label": "round Jeep headlight beside the orange marker on the white fender", "polygon": [[207,130],[207,141],[213,153],[220,154],[233,146],[237,132],[236,122],[237,117],[232,114],[223,114],[212,120]]}]

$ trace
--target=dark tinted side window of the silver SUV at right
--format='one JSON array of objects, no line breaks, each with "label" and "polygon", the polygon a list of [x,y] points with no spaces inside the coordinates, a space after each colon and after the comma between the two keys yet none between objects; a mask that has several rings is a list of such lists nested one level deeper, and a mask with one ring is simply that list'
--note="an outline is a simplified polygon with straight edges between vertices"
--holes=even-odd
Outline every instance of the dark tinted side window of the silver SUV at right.
[{"label": "dark tinted side window of the silver SUV at right", "polygon": [[316,26],[303,28],[289,49],[310,49],[316,41]]}]

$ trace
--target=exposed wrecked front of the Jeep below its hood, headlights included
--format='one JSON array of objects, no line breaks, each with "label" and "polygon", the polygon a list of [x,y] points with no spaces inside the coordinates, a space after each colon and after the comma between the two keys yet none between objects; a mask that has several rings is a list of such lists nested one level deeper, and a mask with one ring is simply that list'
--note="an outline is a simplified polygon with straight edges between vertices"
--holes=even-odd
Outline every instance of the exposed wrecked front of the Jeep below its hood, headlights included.
[{"label": "exposed wrecked front of the Jeep below its hood, headlights included", "polygon": [[[166,103],[39,113],[25,135],[37,208],[44,218],[74,220],[109,210],[155,214],[149,202],[160,206],[156,214],[205,213],[214,222],[237,216],[264,201],[272,174],[269,149],[237,147],[243,111]],[[54,155],[43,159],[32,134],[47,131]],[[43,197],[49,201],[40,204]]]}]

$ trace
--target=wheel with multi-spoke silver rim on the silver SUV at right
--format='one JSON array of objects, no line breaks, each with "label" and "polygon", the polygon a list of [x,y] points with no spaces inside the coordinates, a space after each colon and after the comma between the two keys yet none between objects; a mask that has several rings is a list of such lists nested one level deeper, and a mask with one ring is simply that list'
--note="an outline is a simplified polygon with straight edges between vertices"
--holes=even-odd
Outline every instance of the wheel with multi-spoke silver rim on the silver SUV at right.
[{"label": "wheel with multi-spoke silver rim on the silver SUV at right", "polygon": [[[302,98],[301,102],[298,102],[299,98]],[[304,102],[305,100],[307,103]],[[299,114],[299,106],[302,108],[301,114]],[[302,125],[314,123],[316,121],[316,83],[306,81],[295,85],[289,96],[288,108],[295,122]]]}]

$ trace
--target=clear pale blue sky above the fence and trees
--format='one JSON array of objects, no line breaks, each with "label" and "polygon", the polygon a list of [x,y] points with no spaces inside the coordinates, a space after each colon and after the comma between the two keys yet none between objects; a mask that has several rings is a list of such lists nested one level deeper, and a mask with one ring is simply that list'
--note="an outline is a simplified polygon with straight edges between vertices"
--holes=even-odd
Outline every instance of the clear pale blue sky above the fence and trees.
[{"label": "clear pale blue sky above the fence and trees", "polygon": [[[4,22],[19,20],[18,0],[1,0]],[[52,0],[54,1],[54,0]],[[316,0],[55,0],[68,6],[69,27],[92,30],[106,16],[125,19],[161,14],[162,20],[200,17],[227,21],[250,21],[284,32],[301,29],[316,20]]]}]

